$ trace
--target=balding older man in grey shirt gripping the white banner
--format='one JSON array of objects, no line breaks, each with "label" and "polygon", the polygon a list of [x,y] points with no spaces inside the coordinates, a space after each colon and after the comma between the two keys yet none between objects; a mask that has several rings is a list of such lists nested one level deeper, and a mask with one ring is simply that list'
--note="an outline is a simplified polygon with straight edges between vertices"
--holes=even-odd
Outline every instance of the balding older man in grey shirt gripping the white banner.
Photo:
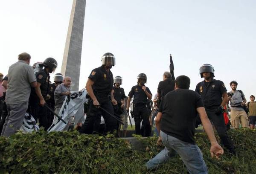
[{"label": "balding older man in grey shirt gripping the white banner", "polygon": [[58,85],[54,91],[55,113],[59,113],[66,96],[70,95],[71,78],[65,77],[63,83]]}]

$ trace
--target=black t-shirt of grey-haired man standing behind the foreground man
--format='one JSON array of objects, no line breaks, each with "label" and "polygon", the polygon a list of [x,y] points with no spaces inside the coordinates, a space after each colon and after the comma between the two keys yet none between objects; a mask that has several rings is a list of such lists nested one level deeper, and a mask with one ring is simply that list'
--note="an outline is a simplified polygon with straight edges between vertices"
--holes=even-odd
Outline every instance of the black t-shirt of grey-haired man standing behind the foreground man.
[{"label": "black t-shirt of grey-haired man standing behind the foreground man", "polygon": [[172,79],[160,81],[157,87],[157,93],[159,93],[160,95],[159,98],[161,99],[167,93],[174,90],[174,87],[175,87],[175,81],[173,81]]}]

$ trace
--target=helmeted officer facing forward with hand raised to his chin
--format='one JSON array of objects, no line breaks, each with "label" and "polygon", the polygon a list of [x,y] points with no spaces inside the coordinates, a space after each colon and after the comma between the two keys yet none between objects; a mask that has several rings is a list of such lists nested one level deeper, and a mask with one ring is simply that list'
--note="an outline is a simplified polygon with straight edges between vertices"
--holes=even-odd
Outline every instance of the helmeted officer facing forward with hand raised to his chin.
[{"label": "helmeted officer facing forward with hand raised to his chin", "polygon": [[[126,110],[129,111],[131,98],[133,97],[133,115],[135,121],[136,134],[150,136],[149,113],[147,108],[148,99],[152,99],[152,93],[148,87],[145,87],[147,75],[140,73],[137,77],[137,85],[131,88],[128,94]],[[143,129],[140,128],[140,122],[143,120]],[[142,132],[141,132],[142,131]]]}]

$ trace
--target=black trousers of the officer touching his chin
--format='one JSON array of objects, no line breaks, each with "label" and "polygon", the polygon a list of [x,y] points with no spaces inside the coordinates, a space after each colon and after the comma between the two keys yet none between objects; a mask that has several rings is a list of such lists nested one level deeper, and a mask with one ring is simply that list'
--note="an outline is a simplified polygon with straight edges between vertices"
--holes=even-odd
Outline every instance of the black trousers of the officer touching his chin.
[{"label": "black trousers of the officer touching his chin", "polygon": [[[149,123],[149,113],[146,105],[134,105],[133,107],[135,132],[138,135],[150,136],[151,126]],[[142,129],[140,128],[140,122],[142,121]]]}]

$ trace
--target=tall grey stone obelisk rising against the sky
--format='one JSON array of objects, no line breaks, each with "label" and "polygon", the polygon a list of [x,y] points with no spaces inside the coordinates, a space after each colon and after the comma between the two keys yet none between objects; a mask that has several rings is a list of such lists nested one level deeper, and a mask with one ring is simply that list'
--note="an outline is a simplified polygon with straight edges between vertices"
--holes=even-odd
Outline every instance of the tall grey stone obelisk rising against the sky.
[{"label": "tall grey stone obelisk rising against the sky", "polygon": [[72,90],[79,90],[81,52],[86,0],[73,0],[61,73],[72,78]]}]

